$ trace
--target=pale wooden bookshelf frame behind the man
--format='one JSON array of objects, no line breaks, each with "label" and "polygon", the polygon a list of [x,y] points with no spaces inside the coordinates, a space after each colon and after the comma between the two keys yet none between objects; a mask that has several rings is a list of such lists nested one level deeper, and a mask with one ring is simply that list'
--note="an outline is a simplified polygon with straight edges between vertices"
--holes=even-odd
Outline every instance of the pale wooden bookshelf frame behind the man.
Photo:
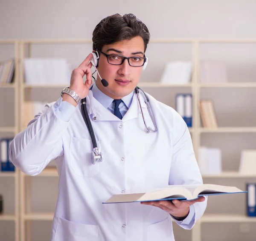
[{"label": "pale wooden bookshelf frame behind the man", "polygon": [[[9,85],[0,85],[1,88],[14,88],[15,89],[15,113],[18,113],[20,110],[19,118],[15,119],[15,126],[9,127],[0,127],[0,132],[13,132],[17,133],[23,129],[22,126],[22,112],[24,105],[24,91],[27,89],[63,89],[66,85],[26,85],[24,83],[24,69],[23,69],[23,61],[25,58],[25,50],[28,51],[30,57],[31,46],[33,44],[91,44],[92,41],[90,39],[22,39],[22,40],[0,40],[0,44],[10,44],[13,43],[16,47],[16,59],[20,60],[19,63],[17,61],[17,79],[15,80],[15,84]],[[192,93],[192,103],[193,103],[193,127],[189,128],[189,131],[192,134],[192,142],[195,149],[195,155],[198,155],[198,148],[201,143],[201,134],[202,133],[256,133],[255,127],[218,127],[215,129],[206,129],[201,127],[201,120],[199,115],[198,103],[200,100],[201,91],[204,88],[230,88],[238,89],[238,88],[255,88],[256,83],[250,82],[240,82],[240,83],[216,83],[216,84],[204,84],[199,82],[198,74],[199,74],[199,46],[202,43],[256,43],[256,40],[252,39],[152,39],[150,43],[189,43],[192,46],[192,82],[188,84],[162,84],[160,82],[139,82],[139,87],[146,88],[190,88]],[[27,47],[27,49],[25,48]],[[19,90],[19,91],[17,91]],[[3,177],[14,177],[15,178],[15,197],[18,198],[15,200],[15,214],[14,215],[0,215],[0,220],[14,220],[15,224],[15,241],[30,241],[26,239],[26,232],[31,232],[30,221],[52,221],[53,212],[42,212],[42,213],[32,213],[30,208],[30,178],[27,175],[17,172],[15,174],[7,174],[0,173],[0,178]],[[38,177],[56,177],[58,178],[58,172],[56,168],[46,168],[44,169]],[[221,175],[204,175],[203,178],[256,178],[253,175],[240,175],[238,172],[223,172]],[[25,188],[26,187],[26,188]],[[18,193],[17,190],[20,190]],[[27,192],[25,192],[25,189]],[[19,205],[20,203],[20,205]],[[256,222],[256,218],[248,218],[243,215],[229,215],[229,214],[205,214],[200,221],[195,225],[192,229],[192,241],[201,241],[201,224],[202,223],[226,223],[226,222]],[[27,223],[27,229],[26,225]],[[20,239],[18,238],[20,236]],[[28,235],[29,237],[29,235]]]}]

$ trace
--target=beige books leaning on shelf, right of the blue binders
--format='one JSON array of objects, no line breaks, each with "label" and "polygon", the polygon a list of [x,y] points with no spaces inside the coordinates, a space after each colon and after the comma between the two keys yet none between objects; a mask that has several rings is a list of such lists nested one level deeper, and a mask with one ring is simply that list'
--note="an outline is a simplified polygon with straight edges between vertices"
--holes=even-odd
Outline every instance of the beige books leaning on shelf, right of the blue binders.
[{"label": "beige books leaning on shelf, right of the blue binders", "polygon": [[199,103],[202,125],[205,128],[217,128],[218,123],[212,100],[200,100]]}]

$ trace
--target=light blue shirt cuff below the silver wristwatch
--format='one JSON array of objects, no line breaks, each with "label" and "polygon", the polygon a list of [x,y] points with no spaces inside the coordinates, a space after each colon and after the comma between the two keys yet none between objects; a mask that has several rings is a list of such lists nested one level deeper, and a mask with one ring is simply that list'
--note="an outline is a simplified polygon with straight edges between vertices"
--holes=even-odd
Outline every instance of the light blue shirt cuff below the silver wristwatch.
[{"label": "light blue shirt cuff below the silver wristwatch", "polygon": [[[77,106],[79,106],[79,105],[77,105]],[[71,119],[74,112],[76,111],[76,107],[67,101],[62,101],[62,97],[59,98],[53,104],[52,107],[53,107],[55,116],[57,116],[57,118],[65,121],[65,122],[68,122]]]}]

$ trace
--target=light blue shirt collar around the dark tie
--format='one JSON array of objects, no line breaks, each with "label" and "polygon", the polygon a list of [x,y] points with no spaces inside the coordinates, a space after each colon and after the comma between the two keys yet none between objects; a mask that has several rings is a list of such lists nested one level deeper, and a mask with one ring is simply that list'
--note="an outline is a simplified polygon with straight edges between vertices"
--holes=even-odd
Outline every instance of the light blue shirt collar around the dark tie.
[{"label": "light blue shirt collar around the dark tie", "polygon": [[[111,97],[109,97],[108,95],[104,94],[96,85],[96,82],[93,83],[93,86],[91,88],[92,92],[93,92],[93,97],[99,101],[99,103],[102,104],[102,106],[104,106],[106,109],[108,109],[108,107],[111,105],[111,103],[113,102],[114,99],[112,99]],[[132,102],[132,98],[134,95],[134,91],[131,92],[129,95],[126,95],[122,98],[122,101],[125,103],[127,108],[130,108],[131,106],[131,102]]]}]

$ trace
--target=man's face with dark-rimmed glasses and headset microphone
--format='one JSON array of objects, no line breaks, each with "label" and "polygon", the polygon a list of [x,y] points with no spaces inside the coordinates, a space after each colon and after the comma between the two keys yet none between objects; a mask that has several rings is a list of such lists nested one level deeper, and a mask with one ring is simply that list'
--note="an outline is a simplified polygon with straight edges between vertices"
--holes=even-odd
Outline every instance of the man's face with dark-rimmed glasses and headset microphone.
[{"label": "man's face with dark-rimmed glasses and headset microphone", "polygon": [[[103,46],[101,52],[107,55],[122,55],[124,57],[143,57],[144,42],[140,36],[131,40],[122,40],[113,44]],[[115,59],[115,57],[113,57]],[[136,60],[136,58],[134,58]],[[131,61],[131,60],[130,60]],[[131,62],[130,62],[131,63]],[[104,87],[99,76],[96,83],[98,88],[113,99],[121,99],[134,91],[140,80],[143,66],[130,66],[126,59],[122,65],[112,65],[108,63],[105,55],[100,54],[98,71],[100,76],[108,81],[108,86]]]}]

